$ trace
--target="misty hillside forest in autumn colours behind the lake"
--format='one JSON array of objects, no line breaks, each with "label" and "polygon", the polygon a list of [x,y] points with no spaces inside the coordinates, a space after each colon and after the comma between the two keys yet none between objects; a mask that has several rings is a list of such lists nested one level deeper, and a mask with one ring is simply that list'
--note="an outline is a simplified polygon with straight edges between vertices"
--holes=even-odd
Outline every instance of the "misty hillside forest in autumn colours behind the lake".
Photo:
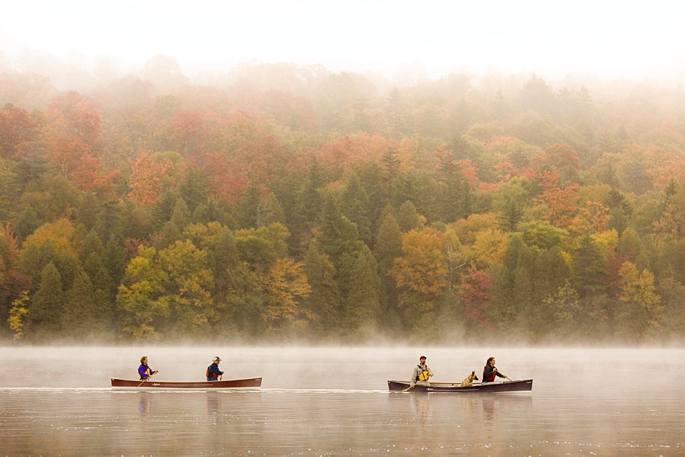
[{"label": "misty hillside forest in autumn colours behind the lake", "polygon": [[685,335],[680,88],[144,70],[0,73],[2,341]]}]

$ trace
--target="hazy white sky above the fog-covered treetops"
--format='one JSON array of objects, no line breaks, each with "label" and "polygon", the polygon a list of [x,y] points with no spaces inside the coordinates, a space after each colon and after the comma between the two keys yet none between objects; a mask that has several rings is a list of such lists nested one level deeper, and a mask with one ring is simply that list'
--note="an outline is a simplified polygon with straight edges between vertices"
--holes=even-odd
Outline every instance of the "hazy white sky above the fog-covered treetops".
[{"label": "hazy white sky above the fog-covered treetops", "polygon": [[685,69],[682,1],[39,1],[5,2],[0,51],[22,47],[122,62],[321,63],[660,77]]}]

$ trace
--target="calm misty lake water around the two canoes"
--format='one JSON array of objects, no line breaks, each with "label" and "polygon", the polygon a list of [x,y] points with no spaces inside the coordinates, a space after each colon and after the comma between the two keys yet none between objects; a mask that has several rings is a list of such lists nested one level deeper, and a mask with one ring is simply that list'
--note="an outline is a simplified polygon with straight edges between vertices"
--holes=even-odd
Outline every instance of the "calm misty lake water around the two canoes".
[{"label": "calm misty lake water around the two canoes", "polygon": [[[390,393],[421,355],[435,381],[488,356],[532,393]],[[252,392],[120,392],[140,357],[159,380],[262,376]],[[0,348],[0,454],[685,454],[682,349]]]}]

